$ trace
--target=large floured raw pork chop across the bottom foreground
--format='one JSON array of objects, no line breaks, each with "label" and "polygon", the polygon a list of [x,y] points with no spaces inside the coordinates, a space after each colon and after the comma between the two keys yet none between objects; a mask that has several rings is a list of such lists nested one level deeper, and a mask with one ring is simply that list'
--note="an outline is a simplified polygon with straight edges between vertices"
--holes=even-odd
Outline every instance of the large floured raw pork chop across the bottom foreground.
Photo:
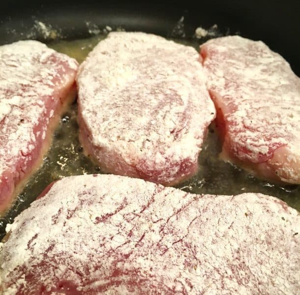
[{"label": "large floured raw pork chop across the bottom foreground", "polygon": [[6,230],[4,295],[300,290],[300,214],[261,194],[201,196],[129,177],[67,177]]}]

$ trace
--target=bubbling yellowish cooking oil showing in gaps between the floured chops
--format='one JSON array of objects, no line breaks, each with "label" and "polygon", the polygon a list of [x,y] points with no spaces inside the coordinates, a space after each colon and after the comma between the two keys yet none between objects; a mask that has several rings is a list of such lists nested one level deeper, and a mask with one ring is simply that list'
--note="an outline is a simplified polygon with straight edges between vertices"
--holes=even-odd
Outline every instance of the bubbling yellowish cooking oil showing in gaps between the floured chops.
[{"label": "bubbling yellowish cooking oil showing in gaps between the floured chops", "polygon": [[[50,43],[49,46],[82,62],[93,47],[105,37],[106,35],[98,35],[73,41],[60,40]],[[194,46],[198,50],[202,39],[175,41]],[[78,131],[77,104],[74,103],[62,116],[41,168],[30,178],[6,216],[0,219],[0,239],[5,235],[6,224],[12,223],[14,217],[27,208],[52,181],[71,175],[102,173],[101,168],[83,154]],[[212,124],[199,156],[198,174],[177,187],[196,194],[263,193],[278,197],[300,211],[299,185],[281,187],[259,180],[244,170],[223,162],[218,157],[220,151],[221,143]]]}]

